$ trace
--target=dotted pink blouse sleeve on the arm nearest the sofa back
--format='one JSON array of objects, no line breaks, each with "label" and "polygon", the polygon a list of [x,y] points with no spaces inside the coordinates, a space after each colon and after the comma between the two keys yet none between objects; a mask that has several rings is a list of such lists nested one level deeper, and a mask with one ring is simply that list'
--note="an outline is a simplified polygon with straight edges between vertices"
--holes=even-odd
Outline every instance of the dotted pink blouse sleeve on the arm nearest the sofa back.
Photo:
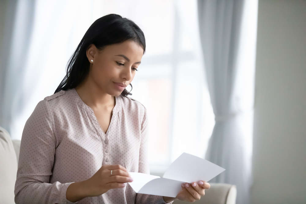
[{"label": "dotted pink blouse sleeve on the arm nearest the sofa back", "polygon": [[40,101],[22,133],[15,183],[17,204],[71,203],[66,199],[71,183],[49,183],[57,143],[53,130],[48,102]]}]

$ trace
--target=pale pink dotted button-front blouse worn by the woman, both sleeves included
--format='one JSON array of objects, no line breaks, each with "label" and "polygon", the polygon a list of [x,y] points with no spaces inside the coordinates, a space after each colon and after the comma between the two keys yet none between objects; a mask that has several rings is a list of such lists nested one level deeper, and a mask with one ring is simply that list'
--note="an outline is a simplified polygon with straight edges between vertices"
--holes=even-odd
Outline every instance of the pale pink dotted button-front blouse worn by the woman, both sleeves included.
[{"label": "pale pink dotted button-front blouse worn by the woman, both sleeves included", "polygon": [[[103,132],[93,110],[75,89],[40,101],[24,126],[15,202],[71,203],[66,190],[102,165],[119,164],[128,172],[149,173],[147,114],[139,102],[116,97],[110,126]],[[126,185],[78,203],[165,203],[162,196],[136,194]]]}]

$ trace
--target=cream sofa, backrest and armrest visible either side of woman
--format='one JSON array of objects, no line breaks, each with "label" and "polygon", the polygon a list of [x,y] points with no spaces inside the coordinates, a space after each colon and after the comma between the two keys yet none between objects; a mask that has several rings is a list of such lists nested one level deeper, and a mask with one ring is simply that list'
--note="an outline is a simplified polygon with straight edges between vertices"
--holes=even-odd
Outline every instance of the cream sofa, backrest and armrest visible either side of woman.
[{"label": "cream sofa, backrest and armrest visible either side of woman", "polygon": [[[9,133],[0,127],[0,204],[13,204],[14,186],[19,158],[20,140],[11,140]],[[211,184],[205,195],[195,204],[235,204],[236,186]],[[187,202],[174,201],[174,204]]]}]

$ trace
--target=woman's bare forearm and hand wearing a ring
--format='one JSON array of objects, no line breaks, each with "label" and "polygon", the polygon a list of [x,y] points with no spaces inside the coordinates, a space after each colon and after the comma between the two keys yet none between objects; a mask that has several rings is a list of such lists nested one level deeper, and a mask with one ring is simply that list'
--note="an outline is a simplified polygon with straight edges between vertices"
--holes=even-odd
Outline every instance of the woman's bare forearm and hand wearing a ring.
[{"label": "woman's bare forearm and hand wearing a ring", "polygon": [[123,166],[104,165],[88,180],[70,184],[66,191],[66,198],[70,202],[77,202],[86,197],[102,195],[113,188],[123,188],[125,183],[132,181],[133,179]]}]

